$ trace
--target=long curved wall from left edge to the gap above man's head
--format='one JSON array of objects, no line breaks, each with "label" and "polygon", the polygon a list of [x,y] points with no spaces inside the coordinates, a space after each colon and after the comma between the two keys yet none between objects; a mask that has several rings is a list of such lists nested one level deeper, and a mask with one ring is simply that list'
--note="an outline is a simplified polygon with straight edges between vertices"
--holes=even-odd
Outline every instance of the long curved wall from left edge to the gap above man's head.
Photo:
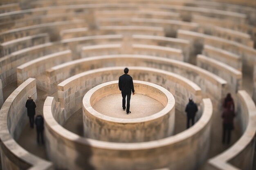
[{"label": "long curved wall from left edge to the gap above man's head", "polygon": [[[95,41],[98,40],[100,44],[100,42],[104,43],[105,39],[106,41],[108,41],[108,38],[109,38],[109,41],[111,42],[113,42],[113,39],[116,39],[116,38],[117,38],[117,41],[121,41],[120,39],[121,37],[119,35],[74,38],[67,41],[63,41],[63,42],[46,43],[42,45],[25,48],[25,49],[13,52],[10,55],[7,55],[5,57],[2,57],[0,59],[0,66],[1,66],[0,78],[2,79],[3,87],[17,80],[16,67],[21,64],[24,64],[26,62],[29,62],[31,60],[34,60],[44,55],[49,55],[49,54],[60,52],[67,49],[72,49],[73,57],[77,58],[78,55],[76,54],[76,51],[77,51],[76,46],[78,46],[79,43],[86,44],[86,42],[88,41],[89,44],[91,43],[94,44],[94,40]],[[80,53],[80,50],[79,50],[79,53]]]}]

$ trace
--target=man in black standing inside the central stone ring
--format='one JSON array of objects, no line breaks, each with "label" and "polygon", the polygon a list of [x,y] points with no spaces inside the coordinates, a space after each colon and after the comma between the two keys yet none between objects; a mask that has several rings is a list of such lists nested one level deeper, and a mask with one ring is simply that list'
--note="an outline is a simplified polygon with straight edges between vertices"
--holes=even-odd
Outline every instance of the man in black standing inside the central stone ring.
[{"label": "man in black standing inside the central stone ring", "polygon": [[[131,99],[131,91],[132,91],[132,95],[134,95],[134,86],[133,86],[133,82],[132,82],[132,77],[130,75],[128,75],[128,68],[124,68],[124,75],[121,75],[119,77],[119,82],[118,82],[118,86],[119,86],[119,90],[122,93],[122,97],[123,97],[123,110],[126,109],[126,114],[130,114],[130,99]],[[127,96],[127,107],[125,107],[125,103],[126,103],[126,96]]]}]

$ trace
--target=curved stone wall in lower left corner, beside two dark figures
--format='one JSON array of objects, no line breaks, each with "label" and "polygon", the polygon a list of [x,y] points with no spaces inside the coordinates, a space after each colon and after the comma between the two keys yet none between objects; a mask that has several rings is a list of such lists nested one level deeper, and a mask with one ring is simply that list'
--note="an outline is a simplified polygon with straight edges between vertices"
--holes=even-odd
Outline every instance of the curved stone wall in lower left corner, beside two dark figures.
[{"label": "curved stone wall in lower left corner, beside two dark figures", "polygon": [[[37,99],[36,79],[29,78],[6,99],[0,110],[2,169],[39,168],[52,170],[52,163],[32,155],[15,141],[27,124],[27,96]],[[22,106],[22,107],[21,107]]]}]

